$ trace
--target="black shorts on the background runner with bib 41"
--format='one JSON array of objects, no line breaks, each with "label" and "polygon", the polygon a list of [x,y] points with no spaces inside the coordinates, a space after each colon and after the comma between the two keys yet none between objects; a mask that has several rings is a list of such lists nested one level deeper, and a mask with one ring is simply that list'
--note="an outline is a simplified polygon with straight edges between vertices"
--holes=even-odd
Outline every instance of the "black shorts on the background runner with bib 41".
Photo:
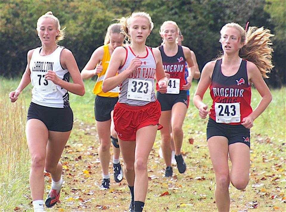
[{"label": "black shorts on the background runner with bib 41", "polygon": [[177,102],[183,102],[186,107],[188,106],[188,98],[187,98],[187,91],[180,90],[178,94],[169,94],[169,93],[160,93],[157,91],[156,98],[160,102],[161,110],[172,110],[172,107]]}]

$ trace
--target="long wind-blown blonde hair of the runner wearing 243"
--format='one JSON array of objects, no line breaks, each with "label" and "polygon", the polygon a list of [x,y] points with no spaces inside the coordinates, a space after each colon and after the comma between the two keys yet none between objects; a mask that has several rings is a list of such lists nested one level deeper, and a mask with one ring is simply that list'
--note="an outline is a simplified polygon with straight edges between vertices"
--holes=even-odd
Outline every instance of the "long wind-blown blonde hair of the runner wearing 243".
[{"label": "long wind-blown blonde hair of the runner wearing 243", "polygon": [[[268,78],[266,74],[270,73],[274,67],[271,61],[273,48],[270,40],[274,35],[270,33],[270,30],[263,27],[249,27],[247,32],[245,32],[242,26],[232,22],[222,27],[220,30],[221,35],[227,27],[237,29],[241,38],[240,42],[244,43],[244,46],[239,51],[239,57],[253,62],[258,67],[262,77]],[[222,58],[222,56],[219,55],[218,58]]]}]

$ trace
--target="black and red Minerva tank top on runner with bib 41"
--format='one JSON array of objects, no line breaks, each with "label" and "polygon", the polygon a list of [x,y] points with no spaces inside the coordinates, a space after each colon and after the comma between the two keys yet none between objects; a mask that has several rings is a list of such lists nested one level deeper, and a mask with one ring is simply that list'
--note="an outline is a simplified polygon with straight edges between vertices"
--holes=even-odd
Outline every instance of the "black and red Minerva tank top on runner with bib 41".
[{"label": "black and red Minerva tank top on runner with bib 41", "polygon": [[[168,87],[173,88],[175,90],[175,87],[177,88],[177,92],[173,92],[178,94],[180,90],[183,90],[183,85],[187,83],[185,80],[185,64],[186,59],[183,53],[183,48],[181,45],[178,45],[178,52],[175,56],[168,57],[165,52],[163,46],[159,46],[159,50],[161,52],[162,61],[163,61],[163,68],[166,73],[170,74],[170,79],[168,82]],[[180,83],[180,86],[178,87],[177,84]],[[157,91],[159,91],[159,85],[156,84]],[[169,93],[169,91],[167,91]]]}]

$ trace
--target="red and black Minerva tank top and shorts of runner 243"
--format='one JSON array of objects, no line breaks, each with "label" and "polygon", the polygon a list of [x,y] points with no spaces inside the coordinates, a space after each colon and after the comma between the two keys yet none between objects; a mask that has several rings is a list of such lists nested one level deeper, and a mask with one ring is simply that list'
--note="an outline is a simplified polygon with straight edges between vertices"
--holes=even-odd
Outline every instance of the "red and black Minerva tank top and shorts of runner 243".
[{"label": "red and black Minerva tank top and shorts of runner 243", "polygon": [[[249,129],[241,125],[243,118],[252,113],[251,85],[248,85],[246,63],[245,59],[241,59],[238,71],[233,76],[225,76],[221,70],[222,59],[217,60],[211,76],[213,104],[209,111],[211,119],[208,122],[207,139],[216,135],[225,136],[229,144],[244,142],[250,146]],[[224,131],[225,135],[214,132],[212,127],[221,128],[219,131]]]}]

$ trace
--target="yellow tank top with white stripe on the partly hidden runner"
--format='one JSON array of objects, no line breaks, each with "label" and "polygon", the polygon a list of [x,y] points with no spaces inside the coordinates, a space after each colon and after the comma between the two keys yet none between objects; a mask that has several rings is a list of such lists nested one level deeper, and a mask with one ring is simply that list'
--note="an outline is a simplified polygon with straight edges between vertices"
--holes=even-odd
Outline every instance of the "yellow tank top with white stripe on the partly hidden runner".
[{"label": "yellow tank top with white stripe on the partly hidden runner", "polygon": [[109,61],[110,61],[110,54],[109,54],[108,44],[107,44],[103,46],[103,57],[101,61],[102,71],[101,73],[97,74],[97,81],[94,85],[93,93],[95,95],[103,96],[103,97],[118,97],[119,87],[116,87],[115,89],[112,89],[106,93],[104,93],[101,88],[107,67],[109,65]]}]

